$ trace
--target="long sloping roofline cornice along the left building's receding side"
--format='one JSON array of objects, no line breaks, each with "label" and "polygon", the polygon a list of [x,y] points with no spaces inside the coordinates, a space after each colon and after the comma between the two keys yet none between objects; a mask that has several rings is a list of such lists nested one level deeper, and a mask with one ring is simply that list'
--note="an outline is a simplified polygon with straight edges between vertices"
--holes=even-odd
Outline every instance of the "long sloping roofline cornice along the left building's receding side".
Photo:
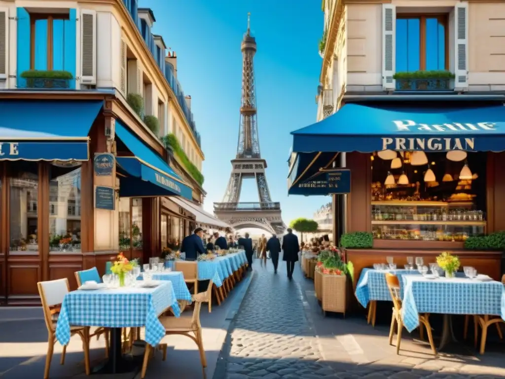
[{"label": "long sloping roofline cornice along the left building's receding side", "polygon": [[[62,1],[64,1],[64,0],[62,0]],[[165,86],[165,89],[167,90],[167,93],[168,93],[169,101],[171,100],[174,102],[174,106],[177,110],[177,113],[179,114],[179,117],[184,120],[183,122],[186,125],[188,134],[191,136],[191,139],[193,140],[193,145],[195,147],[197,147],[196,151],[200,154],[201,159],[205,160],[204,152],[201,150],[201,147],[198,146],[198,142],[196,141],[196,137],[194,136],[194,134],[191,130],[191,127],[189,126],[189,123],[186,119],[186,115],[182,111],[182,108],[181,108],[179,102],[177,101],[174,90],[172,89],[170,84],[168,84],[168,81],[165,78],[165,74],[161,71],[160,67],[158,66],[158,63],[155,61],[155,58],[153,57],[153,55],[151,54],[149,49],[147,49],[147,45],[145,44],[145,41],[142,38],[142,35],[140,34],[140,31],[137,29],[137,25],[135,25],[135,23],[133,22],[128,9],[123,4],[122,0],[86,0],[85,2],[80,2],[80,3],[102,4],[102,5],[104,3],[110,4],[117,11],[120,12],[121,16],[125,20],[125,23],[130,27],[129,31],[128,30],[125,30],[125,31],[131,32],[133,30],[133,35],[134,35],[134,38],[136,39],[135,42],[137,43],[137,45],[140,45],[140,49],[142,49],[143,55],[145,57],[147,57],[147,60],[149,60],[149,63],[151,66],[150,68],[148,68],[149,71],[151,71],[153,74],[157,75],[159,81],[161,83],[163,83],[163,85]],[[152,69],[153,67],[154,67],[154,70]]]}]

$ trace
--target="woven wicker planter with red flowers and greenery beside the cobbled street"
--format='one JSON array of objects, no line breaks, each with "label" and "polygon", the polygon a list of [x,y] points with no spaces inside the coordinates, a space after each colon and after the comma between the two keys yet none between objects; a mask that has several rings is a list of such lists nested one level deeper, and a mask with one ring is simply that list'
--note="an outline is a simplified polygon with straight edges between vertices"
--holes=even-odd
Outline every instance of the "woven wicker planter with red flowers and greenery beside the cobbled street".
[{"label": "woven wicker planter with red flowers and greenery beside the cobbled street", "polygon": [[345,262],[335,248],[323,250],[316,266],[314,279],[316,296],[323,312],[343,313],[347,309],[347,280],[354,277],[352,262]]}]

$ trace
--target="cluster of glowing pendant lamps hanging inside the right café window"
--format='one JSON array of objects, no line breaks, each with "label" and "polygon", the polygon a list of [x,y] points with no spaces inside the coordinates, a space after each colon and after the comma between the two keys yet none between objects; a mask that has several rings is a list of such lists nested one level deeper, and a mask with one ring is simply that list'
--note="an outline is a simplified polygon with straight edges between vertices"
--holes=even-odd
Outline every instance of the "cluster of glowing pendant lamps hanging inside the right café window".
[{"label": "cluster of glowing pendant lamps hanging inside the right caf\u00e9 window", "polygon": [[[434,182],[436,181],[435,173],[430,168],[428,163],[428,157],[424,151],[414,151],[414,152],[399,152],[400,157],[398,157],[398,152],[393,150],[382,150],[377,152],[377,156],[385,161],[391,161],[391,169],[398,169],[403,166],[405,163],[410,163],[411,166],[424,166],[428,165],[428,170],[426,170],[424,174],[425,182]],[[451,150],[447,152],[446,158],[452,162],[461,162],[466,160],[467,152],[462,150]],[[465,161],[463,168],[461,169],[459,179],[461,180],[472,180],[475,179],[476,175],[472,174],[472,171],[468,167],[468,163]],[[442,178],[442,181],[452,181],[453,178],[450,174],[445,174]],[[393,174],[389,171],[387,173],[386,180],[384,181],[385,185],[394,185],[396,184],[394,180]],[[405,174],[405,171],[402,171],[401,175],[398,178],[397,184],[409,184],[409,178]]]}]

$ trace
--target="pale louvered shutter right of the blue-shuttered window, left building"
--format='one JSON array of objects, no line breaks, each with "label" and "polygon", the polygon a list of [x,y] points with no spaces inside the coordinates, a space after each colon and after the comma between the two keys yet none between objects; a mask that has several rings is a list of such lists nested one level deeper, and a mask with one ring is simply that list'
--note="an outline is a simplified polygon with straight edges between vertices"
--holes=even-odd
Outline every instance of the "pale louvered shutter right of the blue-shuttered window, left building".
[{"label": "pale louvered shutter right of the blue-shuttered window, left building", "polygon": [[81,83],[96,84],[96,12],[81,10]]}]

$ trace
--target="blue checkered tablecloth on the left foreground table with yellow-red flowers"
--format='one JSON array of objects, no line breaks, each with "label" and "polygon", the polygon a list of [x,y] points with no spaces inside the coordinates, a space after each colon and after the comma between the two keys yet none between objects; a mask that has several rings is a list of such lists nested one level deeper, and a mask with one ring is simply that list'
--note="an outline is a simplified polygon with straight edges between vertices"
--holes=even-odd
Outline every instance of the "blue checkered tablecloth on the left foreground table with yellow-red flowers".
[{"label": "blue checkered tablecloth on the left foreground table with yellow-red flowers", "polygon": [[56,325],[56,338],[62,345],[70,341],[70,325],[137,327],[145,326],[145,342],[156,346],[165,336],[158,316],[172,307],[180,309],[172,282],[155,288],[122,287],[93,291],[72,291],[65,295]]}]

